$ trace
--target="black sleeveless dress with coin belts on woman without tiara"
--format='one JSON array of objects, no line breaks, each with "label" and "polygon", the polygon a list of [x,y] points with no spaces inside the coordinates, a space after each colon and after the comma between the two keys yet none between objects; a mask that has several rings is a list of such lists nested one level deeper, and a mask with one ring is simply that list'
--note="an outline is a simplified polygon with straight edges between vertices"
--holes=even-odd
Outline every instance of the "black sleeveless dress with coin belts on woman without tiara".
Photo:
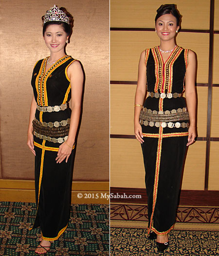
[{"label": "black sleeveless dress with coin belts on woman without tiara", "polygon": [[176,46],[163,61],[159,47],[146,49],[149,97],[140,114],[144,135],[142,151],[148,196],[148,234],[170,232],[174,227],[189,115],[182,97],[188,50]]}]

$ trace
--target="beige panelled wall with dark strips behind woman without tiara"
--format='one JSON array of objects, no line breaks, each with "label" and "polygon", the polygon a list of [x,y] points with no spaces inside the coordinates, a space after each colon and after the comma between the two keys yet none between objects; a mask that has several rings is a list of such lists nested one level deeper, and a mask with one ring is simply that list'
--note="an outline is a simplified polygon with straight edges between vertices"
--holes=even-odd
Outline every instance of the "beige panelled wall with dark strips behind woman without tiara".
[{"label": "beige panelled wall with dark strips behind woman without tiara", "polygon": [[[154,28],[156,10],[162,0],[111,0],[110,27]],[[182,29],[210,27],[210,0],[176,0],[183,15]],[[215,1],[215,29],[219,30],[219,0]],[[208,83],[209,33],[180,32],[178,45],[192,49],[197,54],[197,82]],[[137,81],[140,53],[159,45],[154,31],[110,32],[110,80]],[[219,35],[214,36],[213,81],[219,84]],[[110,134],[133,135],[134,95],[136,84],[110,85]],[[206,137],[208,87],[197,86],[198,135]],[[213,87],[211,136],[219,137],[219,87]],[[210,143],[209,190],[219,190],[219,141]],[[188,149],[182,189],[203,190],[205,177],[206,141],[197,141]],[[135,178],[133,178],[135,177]],[[145,188],[145,170],[141,146],[135,139],[111,138],[110,186]]]}]

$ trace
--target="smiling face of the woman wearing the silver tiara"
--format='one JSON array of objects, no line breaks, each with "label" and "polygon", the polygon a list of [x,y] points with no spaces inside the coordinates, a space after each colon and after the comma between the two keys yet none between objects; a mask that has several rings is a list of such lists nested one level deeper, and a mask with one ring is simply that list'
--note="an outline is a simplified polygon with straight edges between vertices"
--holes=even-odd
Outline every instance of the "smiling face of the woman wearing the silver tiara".
[{"label": "smiling face of the woman wearing the silver tiara", "polygon": [[51,24],[46,28],[43,38],[50,51],[56,53],[64,50],[66,40],[69,37],[62,25]]}]

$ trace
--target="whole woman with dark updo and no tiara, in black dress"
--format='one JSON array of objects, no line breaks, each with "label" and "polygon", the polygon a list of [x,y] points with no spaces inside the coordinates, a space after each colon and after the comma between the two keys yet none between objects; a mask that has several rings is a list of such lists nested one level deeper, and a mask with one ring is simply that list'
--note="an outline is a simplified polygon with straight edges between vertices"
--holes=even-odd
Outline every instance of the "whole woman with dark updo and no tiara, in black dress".
[{"label": "whole woman with dark updo and no tiara, in black dress", "polygon": [[196,138],[196,58],[176,44],[180,19],[175,4],[157,10],[160,45],[141,53],[135,94],[134,130],[146,171],[148,238],[157,239],[158,252],[169,245],[186,147]]}]

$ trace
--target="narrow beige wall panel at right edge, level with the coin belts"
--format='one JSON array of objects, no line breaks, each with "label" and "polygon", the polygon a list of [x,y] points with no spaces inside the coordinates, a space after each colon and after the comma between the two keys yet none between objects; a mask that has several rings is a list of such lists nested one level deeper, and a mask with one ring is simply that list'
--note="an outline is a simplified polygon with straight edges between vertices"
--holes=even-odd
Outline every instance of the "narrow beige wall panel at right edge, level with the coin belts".
[{"label": "narrow beige wall panel at right edge, level with the coin belts", "polygon": [[213,87],[212,88],[211,137],[219,137],[219,101],[218,100],[219,100],[219,87]]}]

